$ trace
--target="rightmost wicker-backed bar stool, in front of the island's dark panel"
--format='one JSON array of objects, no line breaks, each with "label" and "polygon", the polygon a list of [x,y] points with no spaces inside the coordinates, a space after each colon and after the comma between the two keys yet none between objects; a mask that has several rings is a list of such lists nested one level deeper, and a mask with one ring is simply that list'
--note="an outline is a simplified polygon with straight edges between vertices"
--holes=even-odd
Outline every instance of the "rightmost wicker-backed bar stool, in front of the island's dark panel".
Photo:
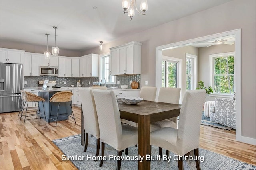
[{"label": "rightmost wicker-backed bar stool, in front of the island's dark panel", "polygon": [[[54,95],[52,95],[52,97],[50,98],[50,102],[58,102],[58,111],[57,111],[57,117],[56,119],[53,119],[51,117],[52,115],[52,105],[51,105],[51,111],[50,111],[50,119],[56,121],[56,126],[57,126],[57,121],[58,121],[58,115],[64,115],[65,116],[62,116],[62,117],[66,117],[68,113],[62,113],[62,114],[59,114],[59,108],[60,108],[60,103],[61,102],[68,102],[70,104],[70,108],[71,108],[71,111],[72,111],[72,114],[73,114],[73,117],[71,115],[68,115],[69,117],[72,117],[72,119],[74,119],[75,123],[76,123],[76,119],[75,119],[75,116],[74,116],[74,113],[73,113],[73,109],[72,109],[72,105],[71,105],[71,100],[72,100],[72,95],[73,93],[70,92],[70,91],[62,91],[62,92],[57,92],[55,93]],[[69,110],[69,109],[68,109]],[[60,117],[59,117],[60,118]]]}]

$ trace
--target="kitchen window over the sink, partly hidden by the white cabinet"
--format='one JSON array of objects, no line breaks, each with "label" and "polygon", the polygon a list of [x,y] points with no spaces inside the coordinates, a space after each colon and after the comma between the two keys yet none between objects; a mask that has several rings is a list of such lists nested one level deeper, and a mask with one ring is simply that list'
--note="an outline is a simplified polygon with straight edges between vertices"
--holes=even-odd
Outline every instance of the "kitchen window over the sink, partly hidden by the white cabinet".
[{"label": "kitchen window over the sink, partly hidden by the white cabinet", "polygon": [[106,83],[112,84],[115,83],[114,76],[109,75],[109,63],[110,55],[102,57],[102,78],[106,79]]}]

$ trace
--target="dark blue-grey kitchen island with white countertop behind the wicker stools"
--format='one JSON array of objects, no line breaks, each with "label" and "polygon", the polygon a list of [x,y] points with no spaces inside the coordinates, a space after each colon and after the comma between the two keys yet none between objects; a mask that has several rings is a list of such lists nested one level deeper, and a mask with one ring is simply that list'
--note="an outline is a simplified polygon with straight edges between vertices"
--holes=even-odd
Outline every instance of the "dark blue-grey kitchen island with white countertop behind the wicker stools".
[{"label": "dark blue-grey kitchen island with white countertop behind the wicker stools", "polygon": [[[52,107],[51,118],[56,119],[56,115],[58,111],[58,102],[49,102],[49,100],[52,97],[52,95],[61,91],[71,91],[71,90],[61,89],[61,88],[54,88],[53,90],[48,90],[48,89],[38,90],[38,96],[44,98],[45,100],[44,111],[45,111],[45,117],[47,122],[54,121],[50,119],[51,107]],[[41,102],[39,103],[39,108],[40,110],[43,110],[43,105]],[[58,121],[68,119],[68,115],[71,115],[71,114],[72,114],[72,111],[71,111],[70,104],[68,102],[60,102]]]}]

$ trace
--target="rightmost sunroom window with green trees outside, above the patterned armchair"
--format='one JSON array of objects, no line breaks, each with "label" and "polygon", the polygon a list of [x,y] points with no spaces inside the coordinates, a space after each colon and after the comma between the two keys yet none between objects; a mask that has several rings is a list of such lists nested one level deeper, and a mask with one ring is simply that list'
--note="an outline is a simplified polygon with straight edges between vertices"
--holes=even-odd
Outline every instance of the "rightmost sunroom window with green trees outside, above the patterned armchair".
[{"label": "rightmost sunroom window with green trees outside, above the patterned armchair", "polygon": [[209,55],[209,57],[210,85],[214,94],[233,94],[235,53],[220,53]]}]

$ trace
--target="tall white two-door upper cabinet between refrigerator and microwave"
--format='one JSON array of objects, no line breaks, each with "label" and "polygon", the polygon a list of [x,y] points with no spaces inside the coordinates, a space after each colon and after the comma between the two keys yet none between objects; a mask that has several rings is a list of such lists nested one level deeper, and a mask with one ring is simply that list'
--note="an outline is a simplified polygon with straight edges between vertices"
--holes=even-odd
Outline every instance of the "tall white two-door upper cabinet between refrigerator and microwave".
[{"label": "tall white two-door upper cabinet between refrigerator and microwave", "polygon": [[34,53],[25,53],[23,57],[23,75],[40,76],[40,55]]}]

